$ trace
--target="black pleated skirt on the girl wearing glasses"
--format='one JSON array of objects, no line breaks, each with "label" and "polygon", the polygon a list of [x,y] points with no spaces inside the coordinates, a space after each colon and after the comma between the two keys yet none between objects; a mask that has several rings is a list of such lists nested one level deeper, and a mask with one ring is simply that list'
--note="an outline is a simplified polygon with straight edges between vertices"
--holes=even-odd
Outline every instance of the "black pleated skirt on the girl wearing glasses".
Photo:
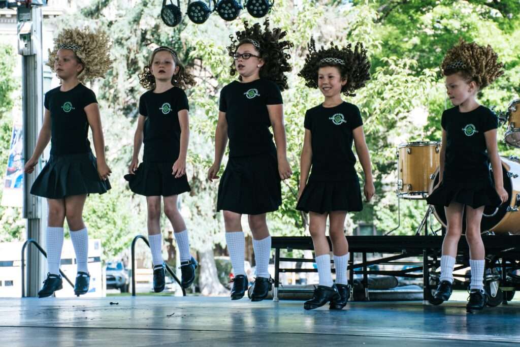
[{"label": "black pleated skirt on the girl wearing glasses", "polygon": [[282,204],[280,182],[276,153],[229,158],[218,185],[217,211],[276,211]]}]

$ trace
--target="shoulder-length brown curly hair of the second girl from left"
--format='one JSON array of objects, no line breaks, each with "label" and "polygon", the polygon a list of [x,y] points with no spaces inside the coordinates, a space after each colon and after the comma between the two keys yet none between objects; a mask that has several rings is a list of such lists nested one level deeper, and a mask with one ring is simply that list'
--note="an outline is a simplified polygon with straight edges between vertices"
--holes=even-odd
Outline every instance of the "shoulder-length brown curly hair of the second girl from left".
[{"label": "shoulder-length brown curly hair of the second girl from left", "polygon": [[175,66],[179,68],[179,71],[172,76],[172,84],[175,87],[179,87],[181,89],[186,89],[187,87],[194,86],[196,82],[193,78],[193,75],[188,72],[186,67],[179,60],[179,55],[177,54],[177,52],[175,52],[175,50],[173,50],[172,48],[166,46],[161,46],[153,50],[152,56],[150,57],[149,65],[145,66],[145,68],[142,70],[142,73],[138,75],[139,83],[146,89],[155,89],[155,77],[152,75],[151,67],[155,54],[162,51],[169,52],[173,57]]}]

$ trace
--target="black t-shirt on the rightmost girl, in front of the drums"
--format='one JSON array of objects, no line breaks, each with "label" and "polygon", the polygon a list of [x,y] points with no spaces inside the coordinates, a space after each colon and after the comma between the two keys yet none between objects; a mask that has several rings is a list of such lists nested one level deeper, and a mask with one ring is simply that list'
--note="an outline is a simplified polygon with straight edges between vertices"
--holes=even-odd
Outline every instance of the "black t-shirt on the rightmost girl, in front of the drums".
[{"label": "black t-shirt on the rightmost girl, in front of the drums", "polygon": [[443,112],[441,125],[447,133],[443,179],[487,180],[490,174],[484,133],[497,128],[497,116],[484,106],[463,113],[456,106]]}]

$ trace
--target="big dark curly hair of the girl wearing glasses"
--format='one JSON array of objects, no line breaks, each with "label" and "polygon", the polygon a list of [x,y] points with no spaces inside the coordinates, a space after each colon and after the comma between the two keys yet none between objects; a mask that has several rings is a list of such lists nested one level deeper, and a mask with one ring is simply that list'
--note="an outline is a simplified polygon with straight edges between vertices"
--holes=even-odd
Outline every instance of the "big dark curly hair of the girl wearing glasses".
[{"label": "big dark curly hair of the girl wearing glasses", "polygon": [[[287,31],[282,31],[280,28],[269,29],[269,20],[264,22],[264,29],[259,23],[255,23],[252,27],[248,22],[244,22],[244,30],[236,32],[236,38],[229,35],[231,44],[226,47],[230,57],[237,52],[238,47],[245,43],[251,43],[258,51],[258,55],[262,57],[264,65],[260,68],[260,77],[275,82],[280,91],[288,89],[287,76],[285,72],[292,70],[289,64],[291,56],[284,51],[293,47],[290,41],[282,41],[282,38],[287,35]],[[258,47],[259,46],[259,47]],[[229,67],[229,73],[234,76],[237,73],[235,67],[235,60]],[[242,80],[242,76],[239,76]]]}]

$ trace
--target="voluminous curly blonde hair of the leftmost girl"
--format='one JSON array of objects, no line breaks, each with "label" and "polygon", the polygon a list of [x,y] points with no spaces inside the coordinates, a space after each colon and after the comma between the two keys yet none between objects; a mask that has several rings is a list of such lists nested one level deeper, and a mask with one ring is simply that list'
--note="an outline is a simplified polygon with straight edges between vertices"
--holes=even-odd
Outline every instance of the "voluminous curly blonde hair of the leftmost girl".
[{"label": "voluminous curly blonde hair of the leftmost girl", "polygon": [[112,66],[110,59],[109,38],[106,32],[97,29],[81,30],[79,28],[64,29],[54,39],[53,50],[49,49],[49,61],[47,65],[54,71],[54,61],[59,49],[73,50],[79,63],[83,65],[83,70],[77,79],[85,82],[96,78],[103,78]]}]

